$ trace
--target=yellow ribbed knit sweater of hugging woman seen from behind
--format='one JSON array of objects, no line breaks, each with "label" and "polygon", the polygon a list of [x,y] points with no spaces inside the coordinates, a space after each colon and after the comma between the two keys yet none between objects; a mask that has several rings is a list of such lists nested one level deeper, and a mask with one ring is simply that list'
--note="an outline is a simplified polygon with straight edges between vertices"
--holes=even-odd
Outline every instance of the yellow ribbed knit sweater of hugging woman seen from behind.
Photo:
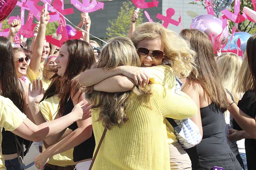
[{"label": "yellow ribbed knit sweater of hugging woman seen from behind", "polygon": [[[132,104],[126,110],[128,121],[107,130],[92,170],[170,170],[165,117],[190,118],[196,115],[197,107],[185,93],[174,92],[175,77],[171,67],[147,69],[152,70],[155,79],[148,103],[143,103],[147,102],[143,96],[131,92]],[[159,76],[160,72],[164,77]],[[100,109],[92,109],[95,150],[104,130],[102,122],[97,121],[99,113]]]}]

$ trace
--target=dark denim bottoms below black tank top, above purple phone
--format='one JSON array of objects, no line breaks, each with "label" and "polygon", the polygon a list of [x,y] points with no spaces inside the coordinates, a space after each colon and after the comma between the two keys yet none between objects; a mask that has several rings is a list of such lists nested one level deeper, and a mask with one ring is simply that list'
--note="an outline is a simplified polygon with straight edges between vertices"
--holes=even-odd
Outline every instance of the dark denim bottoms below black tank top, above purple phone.
[{"label": "dark denim bottoms below black tank top, above purple phone", "polygon": [[241,170],[241,166],[234,153],[199,156],[197,170],[212,170],[213,166],[223,167],[225,170]]}]

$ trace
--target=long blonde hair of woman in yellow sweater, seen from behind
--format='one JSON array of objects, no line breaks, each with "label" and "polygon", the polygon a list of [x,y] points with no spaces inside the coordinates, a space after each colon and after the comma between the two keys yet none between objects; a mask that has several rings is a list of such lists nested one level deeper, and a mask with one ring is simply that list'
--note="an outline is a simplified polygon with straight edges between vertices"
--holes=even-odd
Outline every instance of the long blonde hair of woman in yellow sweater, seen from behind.
[{"label": "long blonde hair of woman in yellow sweater, seen from behind", "polygon": [[[102,48],[99,61],[92,68],[111,70],[122,65],[140,67],[141,63],[132,41],[126,37],[116,37],[110,39]],[[126,110],[132,105],[132,100],[129,100],[131,92],[145,96],[148,101],[151,88],[147,85],[144,88],[134,87],[129,92],[107,93],[93,91],[93,87],[87,87],[85,92],[89,94],[92,109],[100,109],[97,121],[101,121],[104,127],[111,129],[113,125],[119,126],[128,120]]]}]

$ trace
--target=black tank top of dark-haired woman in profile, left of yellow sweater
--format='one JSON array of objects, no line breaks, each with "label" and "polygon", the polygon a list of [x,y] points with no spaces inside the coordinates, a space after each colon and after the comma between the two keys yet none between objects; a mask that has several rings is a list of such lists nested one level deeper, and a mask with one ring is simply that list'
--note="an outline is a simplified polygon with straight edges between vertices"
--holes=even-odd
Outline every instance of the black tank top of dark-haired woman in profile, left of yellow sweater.
[{"label": "black tank top of dark-haired woman in profile, left of yellow sweater", "polygon": [[[69,114],[73,108],[74,108],[74,104],[73,104],[72,99],[70,98],[64,108],[63,116]],[[76,130],[78,128],[77,123],[74,122],[68,128],[73,131]],[[74,151],[73,151],[74,162],[92,158],[94,148],[95,148],[95,139],[94,139],[94,135],[92,132],[92,137],[90,137],[83,143],[74,147]]]}]

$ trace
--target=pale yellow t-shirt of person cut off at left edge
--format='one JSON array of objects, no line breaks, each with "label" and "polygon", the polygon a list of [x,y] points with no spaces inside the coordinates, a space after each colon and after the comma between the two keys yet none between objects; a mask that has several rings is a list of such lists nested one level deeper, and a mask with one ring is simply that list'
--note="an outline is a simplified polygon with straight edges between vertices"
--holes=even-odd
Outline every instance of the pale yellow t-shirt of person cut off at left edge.
[{"label": "pale yellow t-shirt of person cut off at left edge", "polygon": [[[13,131],[26,119],[23,114],[10,99],[0,95],[0,128]],[[2,144],[2,133],[0,133],[0,144]],[[4,166],[4,157],[2,155],[2,147],[0,147],[0,170],[6,170]]]}]

